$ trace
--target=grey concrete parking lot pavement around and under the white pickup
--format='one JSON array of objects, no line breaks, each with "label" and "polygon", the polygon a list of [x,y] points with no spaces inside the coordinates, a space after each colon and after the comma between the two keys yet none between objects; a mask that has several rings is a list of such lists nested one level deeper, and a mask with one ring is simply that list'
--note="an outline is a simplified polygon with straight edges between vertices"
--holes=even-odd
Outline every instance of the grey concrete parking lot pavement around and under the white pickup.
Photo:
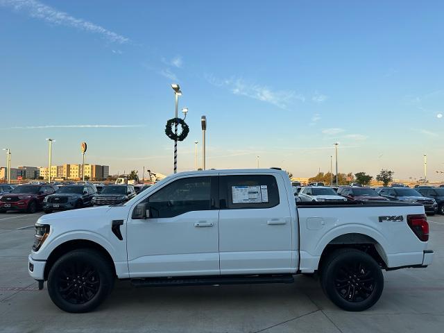
[{"label": "grey concrete parking lot pavement around and under the white pickup", "polygon": [[118,282],[88,314],[68,314],[37,290],[27,271],[33,224],[41,213],[0,214],[1,332],[442,332],[444,216],[429,216],[429,268],[384,273],[375,307],[342,311],[318,282],[135,289]]}]

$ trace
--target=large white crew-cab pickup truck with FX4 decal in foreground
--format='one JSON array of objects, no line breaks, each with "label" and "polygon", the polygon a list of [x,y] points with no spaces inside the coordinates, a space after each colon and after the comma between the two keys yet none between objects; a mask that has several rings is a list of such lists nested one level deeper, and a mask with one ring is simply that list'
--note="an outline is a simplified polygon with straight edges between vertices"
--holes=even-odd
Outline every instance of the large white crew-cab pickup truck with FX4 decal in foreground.
[{"label": "large white crew-cab pickup truck with FX4 decal in foreground", "polygon": [[426,267],[414,203],[297,203],[278,169],[178,173],[126,203],[40,217],[28,271],[65,311],[90,311],[114,280],[135,287],[293,282],[318,273],[342,309],[377,302],[382,269]]}]

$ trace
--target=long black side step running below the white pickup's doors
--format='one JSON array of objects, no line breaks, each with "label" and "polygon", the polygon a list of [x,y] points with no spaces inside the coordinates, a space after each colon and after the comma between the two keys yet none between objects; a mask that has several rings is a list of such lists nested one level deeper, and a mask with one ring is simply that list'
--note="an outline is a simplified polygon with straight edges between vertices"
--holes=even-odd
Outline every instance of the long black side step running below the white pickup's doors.
[{"label": "long black side step running below the white pickup's doors", "polygon": [[214,284],[293,283],[291,274],[284,275],[216,275],[180,278],[132,279],[135,287],[203,286]]}]

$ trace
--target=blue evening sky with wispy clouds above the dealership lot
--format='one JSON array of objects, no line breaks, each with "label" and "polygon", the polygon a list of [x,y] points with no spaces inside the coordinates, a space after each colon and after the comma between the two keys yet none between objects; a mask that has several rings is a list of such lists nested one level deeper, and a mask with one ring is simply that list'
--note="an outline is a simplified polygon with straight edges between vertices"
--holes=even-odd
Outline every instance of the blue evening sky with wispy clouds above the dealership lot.
[{"label": "blue evening sky with wispy clouds above the dealership lot", "polygon": [[[443,1],[0,0],[0,148],[12,167],[444,173]],[[182,114],[180,112],[180,117]],[[257,157],[259,156],[259,158]],[[3,162],[4,160],[4,162]],[[334,163],[334,157],[333,157]],[[0,159],[0,166],[6,157]]]}]

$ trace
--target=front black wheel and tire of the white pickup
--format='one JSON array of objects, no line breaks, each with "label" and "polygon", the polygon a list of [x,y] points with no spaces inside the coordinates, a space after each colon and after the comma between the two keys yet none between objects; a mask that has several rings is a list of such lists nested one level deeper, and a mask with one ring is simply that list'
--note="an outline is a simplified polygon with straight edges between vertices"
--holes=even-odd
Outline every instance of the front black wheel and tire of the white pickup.
[{"label": "front black wheel and tire of the white pickup", "polygon": [[73,250],[51,267],[48,276],[51,300],[67,312],[96,309],[114,287],[114,271],[109,260],[95,250]]}]

